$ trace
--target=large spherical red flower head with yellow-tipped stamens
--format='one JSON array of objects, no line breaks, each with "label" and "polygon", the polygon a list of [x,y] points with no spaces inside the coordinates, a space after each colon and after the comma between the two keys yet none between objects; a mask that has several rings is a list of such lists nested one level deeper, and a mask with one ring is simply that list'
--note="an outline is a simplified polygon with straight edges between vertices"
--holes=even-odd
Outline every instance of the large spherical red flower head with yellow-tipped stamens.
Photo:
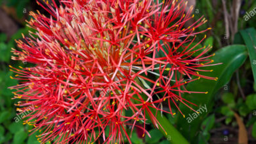
[{"label": "large spherical red flower head with yellow-tipped stamens", "polygon": [[[190,46],[206,20],[186,27],[194,15],[192,8],[184,11],[185,2],[59,2],[39,3],[49,17],[30,12],[28,25],[36,32],[16,41],[22,50],[12,50],[13,60],[35,64],[11,67],[21,80],[11,88],[22,99],[20,112],[34,107],[25,123],[40,130],[42,143],[93,143],[99,137],[104,143],[127,137],[131,143],[127,128],[139,128],[144,137],[148,120],[161,127],[150,109],[175,115],[171,105],[189,103],[181,94],[188,92],[184,84],[196,80],[192,75],[215,79],[196,72],[212,65],[203,56],[209,46]],[[161,108],[165,100],[169,111]]]}]

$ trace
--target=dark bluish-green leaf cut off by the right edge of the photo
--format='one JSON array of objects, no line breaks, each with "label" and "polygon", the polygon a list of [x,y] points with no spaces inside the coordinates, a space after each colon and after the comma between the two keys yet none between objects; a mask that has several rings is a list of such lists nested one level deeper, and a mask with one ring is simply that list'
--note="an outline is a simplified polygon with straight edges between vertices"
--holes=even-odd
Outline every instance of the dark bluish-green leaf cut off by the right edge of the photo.
[{"label": "dark bluish-green leaf cut off by the right edge of the photo", "polygon": [[249,58],[251,61],[251,69],[253,70],[254,81],[256,82],[256,30],[254,28],[249,28],[240,31],[247,50],[249,53]]}]

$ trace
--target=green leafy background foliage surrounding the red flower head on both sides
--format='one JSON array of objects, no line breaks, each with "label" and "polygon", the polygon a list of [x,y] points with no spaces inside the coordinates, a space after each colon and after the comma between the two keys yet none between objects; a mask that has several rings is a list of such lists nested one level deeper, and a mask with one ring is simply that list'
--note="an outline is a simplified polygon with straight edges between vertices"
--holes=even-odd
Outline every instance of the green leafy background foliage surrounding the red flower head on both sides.
[{"label": "green leafy background foliage surrounding the red flower head on both sides", "polygon": [[[14,40],[21,39],[21,33],[27,35],[28,30],[32,30],[26,27],[22,20],[29,18],[28,12],[24,13],[24,9],[35,10],[33,3],[30,0],[0,0],[1,8],[16,10],[9,16],[16,20],[19,27],[19,30],[11,37],[7,37],[0,31],[0,143],[39,143],[35,137],[37,133],[30,135],[30,126],[22,124],[22,120],[15,122],[17,112],[14,103],[16,101],[11,99],[13,94],[8,89],[9,86],[18,84],[18,81],[10,79],[10,76],[14,77],[14,73],[9,71],[9,65],[13,67],[27,65],[11,60],[11,48],[16,48]],[[197,1],[198,13],[195,13],[195,18],[204,15],[209,20],[198,31],[207,27],[213,28],[207,33],[209,37],[198,48],[203,45],[212,45],[213,48],[209,53],[215,52],[213,60],[215,63],[223,64],[205,68],[213,69],[212,73],[205,73],[205,75],[218,77],[218,81],[200,79],[187,86],[188,90],[207,91],[207,94],[184,94],[184,98],[196,103],[199,107],[207,105],[208,111],[191,123],[179,114],[175,117],[170,115],[161,117],[160,114],[158,120],[163,124],[167,135],[161,129],[157,130],[154,126],[148,126],[152,137],[146,135],[144,138],[139,138],[135,130],[131,134],[133,143],[238,143],[240,130],[235,114],[243,120],[248,143],[256,143],[256,31],[254,29],[256,28],[256,14],[248,21],[244,20],[245,12],[255,8],[256,1],[243,1],[238,19],[239,32],[236,33],[234,42],[232,42],[225,38],[221,0]],[[180,105],[180,108],[186,116],[193,113],[184,105]]]}]

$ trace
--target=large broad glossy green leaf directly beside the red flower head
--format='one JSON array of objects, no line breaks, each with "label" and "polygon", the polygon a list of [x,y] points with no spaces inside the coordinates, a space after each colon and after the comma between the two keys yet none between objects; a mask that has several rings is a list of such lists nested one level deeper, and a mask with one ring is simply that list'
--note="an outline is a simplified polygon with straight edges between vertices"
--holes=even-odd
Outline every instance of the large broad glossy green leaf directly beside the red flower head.
[{"label": "large broad glossy green leaf directly beside the red flower head", "polygon": [[[194,105],[190,105],[193,109],[197,110],[202,107],[202,105],[207,106],[207,110],[211,111],[214,103],[213,98],[217,91],[227,84],[234,71],[238,69],[246,60],[247,51],[244,45],[231,45],[221,48],[216,52],[216,55],[213,57],[215,63],[222,63],[221,65],[215,65],[212,67],[203,67],[202,69],[211,70],[213,72],[201,72],[202,75],[207,75],[209,77],[218,77],[218,81],[211,81],[208,79],[199,79],[197,81],[190,82],[186,89],[192,92],[208,92],[207,94],[184,94],[182,98],[191,101],[198,105],[198,107]],[[177,120],[177,128],[182,132],[182,134],[190,141],[197,143],[197,139],[195,135],[198,135],[200,124],[202,123],[203,118],[207,115],[207,113],[202,113],[192,122],[188,123],[188,114],[194,113],[190,110],[186,105],[179,105],[182,113],[186,116],[185,118],[182,115],[179,115]],[[189,128],[189,130],[188,130]]]}]

